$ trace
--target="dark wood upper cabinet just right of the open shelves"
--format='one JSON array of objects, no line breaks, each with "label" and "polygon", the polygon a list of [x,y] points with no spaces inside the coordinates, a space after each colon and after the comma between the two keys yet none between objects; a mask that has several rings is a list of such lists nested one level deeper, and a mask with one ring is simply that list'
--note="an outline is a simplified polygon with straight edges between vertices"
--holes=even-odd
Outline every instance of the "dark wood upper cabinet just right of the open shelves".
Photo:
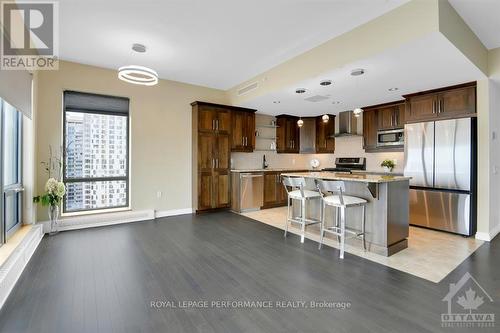
[{"label": "dark wood upper cabinet just right of the open shelves", "polygon": [[276,152],[299,153],[300,129],[297,125],[298,117],[280,115],[276,117]]}]

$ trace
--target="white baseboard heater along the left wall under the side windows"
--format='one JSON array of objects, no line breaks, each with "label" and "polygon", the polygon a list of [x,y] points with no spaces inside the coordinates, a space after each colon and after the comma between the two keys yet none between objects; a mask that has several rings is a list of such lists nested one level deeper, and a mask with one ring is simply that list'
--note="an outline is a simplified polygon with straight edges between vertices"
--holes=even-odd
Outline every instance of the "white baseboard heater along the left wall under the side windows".
[{"label": "white baseboard heater along the left wall under the side windows", "polygon": [[41,225],[34,225],[0,267],[0,308],[16,285],[24,268],[43,238]]}]

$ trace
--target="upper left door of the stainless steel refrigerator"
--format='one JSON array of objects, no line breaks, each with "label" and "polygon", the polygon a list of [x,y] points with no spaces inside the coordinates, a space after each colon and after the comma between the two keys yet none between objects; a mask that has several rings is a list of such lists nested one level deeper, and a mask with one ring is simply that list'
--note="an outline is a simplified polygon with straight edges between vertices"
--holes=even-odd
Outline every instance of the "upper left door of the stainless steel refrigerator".
[{"label": "upper left door of the stainless steel refrigerator", "polygon": [[434,186],[434,122],[405,126],[404,174],[412,186]]}]

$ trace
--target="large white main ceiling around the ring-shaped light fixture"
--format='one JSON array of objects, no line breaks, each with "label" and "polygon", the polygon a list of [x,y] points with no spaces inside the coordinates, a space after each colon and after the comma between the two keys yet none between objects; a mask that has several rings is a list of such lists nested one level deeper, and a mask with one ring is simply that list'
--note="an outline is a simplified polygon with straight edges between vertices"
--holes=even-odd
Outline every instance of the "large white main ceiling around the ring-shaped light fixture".
[{"label": "large white main ceiling around the ring-shaped light fixture", "polygon": [[229,89],[407,1],[60,0],[60,58]]}]

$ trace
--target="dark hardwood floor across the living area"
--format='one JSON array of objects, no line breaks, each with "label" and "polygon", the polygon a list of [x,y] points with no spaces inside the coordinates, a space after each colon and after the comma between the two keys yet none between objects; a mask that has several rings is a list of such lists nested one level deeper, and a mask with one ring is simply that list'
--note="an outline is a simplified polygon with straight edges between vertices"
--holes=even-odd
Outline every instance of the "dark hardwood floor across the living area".
[{"label": "dark hardwood floor across the living area", "polygon": [[[500,315],[499,258],[497,237],[434,284],[228,212],[69,231],[42,240],[0,332],[450,332],[442,299],[465,272],[494,298],[482,312]],[[156,309],[155,300],[351,308]]]}]

